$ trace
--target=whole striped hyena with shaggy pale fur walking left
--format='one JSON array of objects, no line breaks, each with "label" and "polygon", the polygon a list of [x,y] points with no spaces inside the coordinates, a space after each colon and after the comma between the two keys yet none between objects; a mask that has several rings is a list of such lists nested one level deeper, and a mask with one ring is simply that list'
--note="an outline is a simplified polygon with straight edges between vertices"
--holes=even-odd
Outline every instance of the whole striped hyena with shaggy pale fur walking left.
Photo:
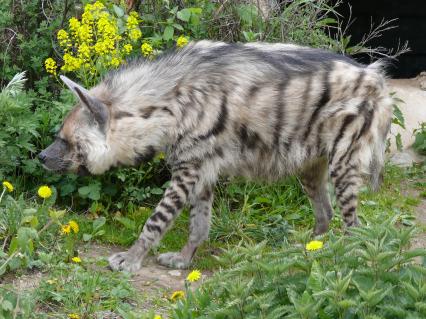
[{"label": "whole striped hyena with shaggy pale fur walking left", "polygon": [[114,270],[137,271],[185,205],[190,235],[160,264],[185,268],[207,239],[220,175],[273,181],[297,174],[324,233],[333,209],[330,178],[347,227],[359,224],[363,173],[379,182],[391,100],[380,63],[288,44],[201,41],[151,60],[130,61],[86,90],[55,141],[39,155],[47,169],[102,174],[138,166],[158,152],[170,186]]}]

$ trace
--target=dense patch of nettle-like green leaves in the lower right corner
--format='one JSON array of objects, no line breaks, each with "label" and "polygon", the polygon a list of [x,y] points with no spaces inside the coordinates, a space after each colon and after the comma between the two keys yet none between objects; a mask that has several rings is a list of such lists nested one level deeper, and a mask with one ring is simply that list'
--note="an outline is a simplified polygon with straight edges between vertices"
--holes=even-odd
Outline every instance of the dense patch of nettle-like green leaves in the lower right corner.
[{"label": "dense patch of nettle-like green leaves in the lower right corner", "polygon": [[[410,249],[414,228],[379,225],[332,232],[324,247],[310,232],[269,249],[265,242],[224,251],[221,271],[178,302],[173,318],[422,318],[425,249]],[[308,249],[318,249],[309,251]]]}]

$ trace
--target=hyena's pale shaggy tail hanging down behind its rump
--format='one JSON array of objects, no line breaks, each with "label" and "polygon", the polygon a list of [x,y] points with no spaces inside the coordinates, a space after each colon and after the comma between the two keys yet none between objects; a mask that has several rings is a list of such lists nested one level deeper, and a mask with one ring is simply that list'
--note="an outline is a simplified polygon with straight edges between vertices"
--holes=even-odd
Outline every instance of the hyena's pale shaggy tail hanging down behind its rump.
[{"label": "hyena's pale shaggy tail hanging down behind its rump", "polygon": [[376,76],[379,84],[379,90],[376,91],[377,95],[373,99],[374,113],[371,123],[371,143],[368,144],[370,148],[368,153],[371,154],[368,173],[373,191],[377,191],[383,182],[386,137],[392,121],[392,98],[387,88],[384,74],[386,65],[387,61],[379,60],[367,67],[367,70]]}]

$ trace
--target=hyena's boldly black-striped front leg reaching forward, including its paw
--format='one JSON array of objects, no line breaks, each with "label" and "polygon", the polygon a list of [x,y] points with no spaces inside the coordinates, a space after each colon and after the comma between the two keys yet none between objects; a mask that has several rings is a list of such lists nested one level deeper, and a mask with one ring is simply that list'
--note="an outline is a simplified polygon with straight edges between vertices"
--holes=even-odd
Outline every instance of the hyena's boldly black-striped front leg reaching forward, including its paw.
[{"label": "hyena's boldly black-striped front leg reaching forward, including its paw", "polygon": [[173,172],[170,186],[166,189],[154,213],[146,221],[139,239],[128,251],[116,253],[109,258],[109,265],[113,270],[135,272],[141,268],[149,249],[158,244],[182,211],[197,181],[196,168],[190,165]]}]

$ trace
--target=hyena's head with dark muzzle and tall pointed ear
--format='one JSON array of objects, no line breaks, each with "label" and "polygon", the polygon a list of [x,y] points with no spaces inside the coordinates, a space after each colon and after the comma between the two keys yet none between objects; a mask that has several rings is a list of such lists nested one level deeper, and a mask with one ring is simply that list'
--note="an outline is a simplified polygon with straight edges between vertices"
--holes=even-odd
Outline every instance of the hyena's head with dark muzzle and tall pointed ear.
[{"label": "hyena's head with dark muzzle and tall pointed ear", "polygon": [[58,173],[103,173],[111,166],[107,142],[110,111],[93,92],[65,76],[61,79],[79,102],[66,116],[53,143],[38,155],[39,160],[46,169]]}]

